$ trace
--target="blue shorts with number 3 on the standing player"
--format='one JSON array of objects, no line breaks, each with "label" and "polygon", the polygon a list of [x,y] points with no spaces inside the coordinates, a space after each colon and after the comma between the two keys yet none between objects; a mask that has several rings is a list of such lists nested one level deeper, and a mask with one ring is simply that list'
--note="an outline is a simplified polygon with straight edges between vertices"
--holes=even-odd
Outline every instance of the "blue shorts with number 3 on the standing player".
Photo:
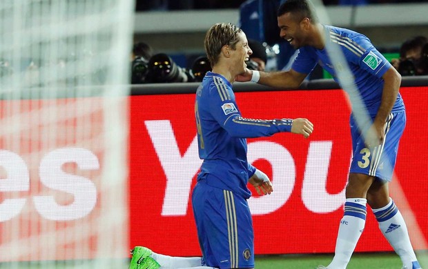
[{"label": "blue shorts with number 3 on the standing player", "polygon": [[[349,172],[391,181],[393,168],[396,165],[398,143],[406,126],[406,113],[396,112],[389,114],[387,123],[385,123],[383,143],[372,150],[365,146],[364,137],[359,128],[357,128],[356,119],[353,115],[351,115],[350,124],[353,158]],[[367,126],[364,129],[367,129]]]}]

